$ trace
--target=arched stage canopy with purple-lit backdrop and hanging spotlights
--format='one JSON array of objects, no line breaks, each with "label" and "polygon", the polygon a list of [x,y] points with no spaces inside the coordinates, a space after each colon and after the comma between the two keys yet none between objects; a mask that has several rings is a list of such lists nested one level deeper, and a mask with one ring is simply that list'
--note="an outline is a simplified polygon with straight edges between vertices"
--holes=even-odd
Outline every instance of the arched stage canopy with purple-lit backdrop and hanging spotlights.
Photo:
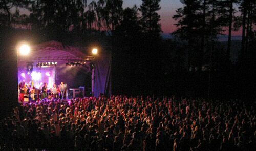
[{"label": "arched stage canopy with purple-lit backdrop and hanging spotlights", "polygon": [[39,89],[44,82],[52,87],[53,83],[60,84],[63,81],[69,88],[82,86],[90,90],[93,67],[94,96],[109,95],[111,93],[110,53],[101,52],[93,56],[91,50],[87,48],[48,41],[32,46],[28,55],[18,54],[18,82],[25,81]]}]

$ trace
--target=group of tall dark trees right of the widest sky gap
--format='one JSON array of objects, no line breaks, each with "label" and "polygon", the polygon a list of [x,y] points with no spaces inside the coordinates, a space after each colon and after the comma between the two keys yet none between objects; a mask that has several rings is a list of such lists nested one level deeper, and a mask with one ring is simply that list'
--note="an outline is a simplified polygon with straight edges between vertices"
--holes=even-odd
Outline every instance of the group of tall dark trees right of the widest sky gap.
[{"label": "group of tall dark trees right of the widest sky gap", "polygon": [[[248,59],[255,45],[256,1],[252,0],[184,0],[173,16],[178,30],[173,34],[188,42],[189,64],[201,67],[202,61],[214,51],[217,36],[228,33],[225,59],[230,61],[232,31],[242,28],[240,60]],[[253,29],[254,28],[254,29]],[[206,49],[206,47],[211,47]],[[197,58],[193,60],[193,58]],[[210,59],[207,59],[210,60]],[[207,62],[207,61],[206,61]]]}]

